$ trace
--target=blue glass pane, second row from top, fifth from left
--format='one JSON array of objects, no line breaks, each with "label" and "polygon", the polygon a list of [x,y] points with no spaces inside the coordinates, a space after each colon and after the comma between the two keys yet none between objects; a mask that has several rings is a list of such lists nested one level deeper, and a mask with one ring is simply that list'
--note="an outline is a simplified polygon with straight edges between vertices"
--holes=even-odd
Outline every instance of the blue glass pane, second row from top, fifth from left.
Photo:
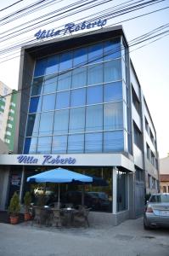
[{"label": "blue glass pane, second row from top, fifth from left", "polygon": [[88,66],[87,68],[87,84],[103,83],[103,64]]}]

